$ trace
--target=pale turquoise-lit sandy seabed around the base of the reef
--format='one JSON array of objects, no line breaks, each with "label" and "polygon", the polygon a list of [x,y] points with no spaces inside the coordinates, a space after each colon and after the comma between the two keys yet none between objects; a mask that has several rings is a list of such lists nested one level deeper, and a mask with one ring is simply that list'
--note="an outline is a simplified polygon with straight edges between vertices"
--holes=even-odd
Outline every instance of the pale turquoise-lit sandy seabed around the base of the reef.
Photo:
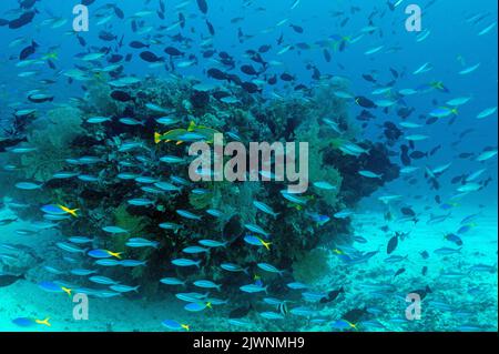
[{"label": "pale turquoise-lit sandy seabed around the base of the reef", "polygon": [[[325,324],[310,325],[305,318],[293,320],[297,326],[303,325],[303,331],[328,331],[327,323],[337,320],[346,310],[370,306],[380,307],[385,313],[377,318],[394,331],[450,331],[459,325],[477,325],[483,330],[497,331],[497,269],[496,273],[467,272],[472,264],[497,265],[497,208],[487,209],[477,220],[477,225],[462,235],[465,242],[461,253],[450,256],[441,256],[432,253],[438,247],[457,247],[449,241],[444,240],[442,234],[455,232],[459,221],[472,214],[475,211],[457,208],[452,211],[452,218],[437,225],[427,225],[426,218],[411,226],[411,223],[390,223],[390,229],[396,231],[413,231],[406,240],[399,242],[394,252],[398,255],[408,255],[408,261],[397,264],[386,264],[386,244],[393,233],[385,234],[379,230],[384,225],[383,213],[363,214],[355,218],[355,234],[363,235],[368,240],[366,244],[355,244],[361,251],[380,252],[368,263],[357,265],[345,265],[337,257],[332,257],[332,275],[316,284],[316,290],[327,291],[345,284],[347,297],[340,306],[336,304],[326,305],[319,317],[327,318]],[[12,214],[3,211],[0,219]],[[28,227],[28,224],[16,222],[0,229],[0,243],[24,244],[37,250],[41,257],[49,252],[53,244],[53,234],[45,232],[34,236],[20,236],[13,232],[16,229]],[[422,260],[420,251],[428,251],[430,256]],[[38,272],[43,264],[39,264]],[[421,266],[428,266],[428,275],[420,275]],[[406,267],[406,272],[394,280],[393,274],[399,267]],[[440,272],[455,271],[466,272],[466,276],[456,280],[440,277]],[[342,280],[342,281],[338,281]],[[346,281],[345,281],[346,280]],[[39,280],[40,281],[40,280]],[[399,290],[396,295],[383,299],[373,299],[369,294],[363,294],[356,290],[358,284],[365,283],[391,283]],[[427,301],[439,301],[451,305],[450,311],[432,309],[431,303],[424,303],[422,320],[407,324],[393,324],[391,317],[403,317],[407,303],[404,302],[405,292],[430,285],[434,293]],[[468,291],[479,287],[478,295],[470,295]],[[223,296],[221,296],[223,297]],[[35,325],[29,331],[164,331],[161,322],[173,318],[189,323],[193,331],[203,330],[238,330],[226,324],[222,313],[217,309],[207,310],[203,313],[192,314],[182,309],[183,302],[173,295],[161,302],[147,302],[145,300],[128,300],[124,297],[95,299],[90,297],[89,321],[73,320],[74,304],[63,293],[48,293],[38,287],[34,282],[18,281],[13,285],[0,287],[0,330],[23,331],[11,321],[17,317],[35,317],[43,320],[50,317],[51,327]],[[310,305],[313,307],[313,305]],[[464,317],[455,316],[456,312],[471,312]],[[462,315],[461,315],[462,316]],[[252,317],[254,318],[254,317]],[[259,318],[258,318],[259,320]],[[265,325],[265,322],[259,325]]]}]

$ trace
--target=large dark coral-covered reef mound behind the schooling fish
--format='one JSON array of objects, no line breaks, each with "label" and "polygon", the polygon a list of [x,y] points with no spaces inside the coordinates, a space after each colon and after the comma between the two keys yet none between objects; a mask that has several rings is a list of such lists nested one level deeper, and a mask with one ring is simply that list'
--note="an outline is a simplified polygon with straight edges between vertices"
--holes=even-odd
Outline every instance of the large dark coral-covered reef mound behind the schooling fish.
[{"label": "large dark coral-covered reef mound behind the schooling fish", "polygon": [[[319,222],[314,220],[314,215],[332,219],[334,213],[355,206],[359,199],[398,174],[397,168],[388,161],[384,146],[359,140],[345,101],[332,93],[338,89],[347,90],[347,82],[335,79],[324,82],[306,98],[272,100],[255,99],[237,88],[197,91],[196,83],[189,79],[147,78],[142,83],[125,88],[133,97],[132,101],[116,102],[110,97],[111,89],[98,81],[79,102],[79,109],[59,108],[48,114],[43,125],[38,121],[33,123],[28,143],[37,151],[22,156],[23,170],[19,178],[47,183],[44,192],[33,194],[31,202],[71,202],[72,206],[82,211],[83,218],[61,222],[63,233],[96,235],[94,246],[123,252],[126,259],[146,261],[147,266],[135,267],[131,275],[118,269],[102,271],[125,283],[133,280],[146,296],[167,291],[159,287],[159,280],[165,274],[181,274],[189,280],[193,274],[201,273],[206,279],[223,283],[224,294],[234,302],[248,301],[238,286],[228,286],[241,284],[241,276],[244,279],[244,275],[227,276],[220,269],[223,262],[244,266],[265,260],[277,269],[292,270],[282,277],[256,267],[248,270],[249,274],[258,275],[264,281],[272,277],[272,291],[276,293],[288,291],[285,282],[292,275],[303,282],[319,279],[328,272],[327,251],[320,245],[334,243],[339,234],[348,234],[349,219]],[[237,98],[237,103],[218,100],[216,93],[220,92]],[[175,125],[159,124],[156,119],[164,115],[174,118]],[[89,124],[82,123],[82,117],[108,117],[109,121]],[[122,124],[119,121],[122,117],[131,117],[140,125]],[[340,127],[342,139],[369,149],[369,155],[345,155],[335,143],[339,133],[325,124],[324,119]],[[308,142],[310,185],[304,196],[306,205],[283,199],[281,191],[286,188],[285,182],[192,183],[187,178],[189,158],[180,164],[159,161],[164,155],[187,156],[187,146],[174,142],[155,144],[154,132],[187,129],[191,122],[220,132],[231,132],[242,142]],[[227,135],[225,139],[228,139]],[[81,156],[99,159],[96,163],[77,169],[79,173],[95,176],[93,182],[73,179],[54,183],[50,180],[54,172],[70,170],[65,159]],[[381,173],[384,178],[365,179],[357,173],[360,168]],[[157,193],[133,178],[118,178],[120,173],[172,183],[175,183],[172,176],[176,176],[185,183],[176,183],[177,191]],[[335,189],[318,190],[312,184],[318,181],[328,182]],[[131,205],[129,201],[136,198],[147,198],[152,204]],[[277,214],[273,216],[258,212],[254,201],[265,201]],[[201,220],[186,222],[177,214],[179,210],[198,214]],[[207,210],[215,210],[220,215],[211,215]],[[164,230],[160,226],[164,222],[180,226]],[[272,246],[268,251],[245,244],[243,236],[247,231],[244,225],[248,223],[262,225],[271,233]],[[102,231],[105,225],[116,225],[129,232],[110,236]],[[157,247],[128,247],[125,243],[132,236],[155,241]],[[185,256],[182,250],[201,239],[218,240],[226,244],[205,254],[197,272],[170,264],[169,260]]]}]

